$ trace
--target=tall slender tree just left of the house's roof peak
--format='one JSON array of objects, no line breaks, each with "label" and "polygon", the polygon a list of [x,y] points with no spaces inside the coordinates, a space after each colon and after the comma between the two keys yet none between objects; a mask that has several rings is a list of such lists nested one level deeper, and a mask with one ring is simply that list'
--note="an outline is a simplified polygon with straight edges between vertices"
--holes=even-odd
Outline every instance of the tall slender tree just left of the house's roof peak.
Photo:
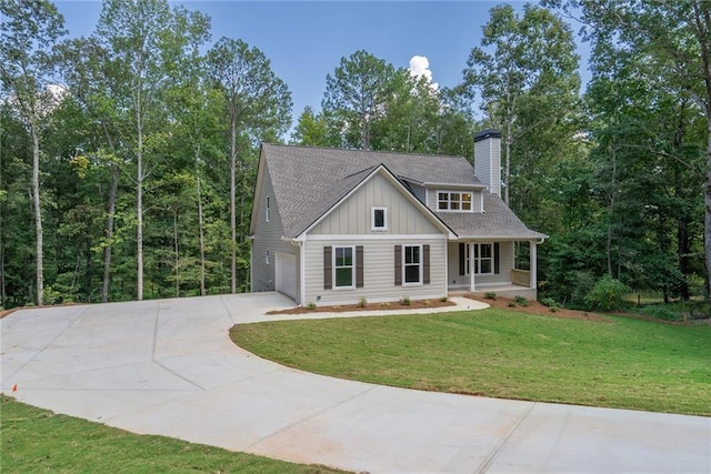
[{"label": "tall slender tree just left of the house's roof peak", "polygon": [[[291,93],[271,70],[267,57],[242,40],[221,38],[208,51],[208,68],[212,85],[222,93],[224,111],[229,117],[231,292],[237,293],[238,167],[240,191],[244,189],[248,175],[247,160],[240,153],[239,143],[241,139],[257,143],[266,137],[283,133],[291,122]],[[244,193],[240,192],[240,232],[243,232]]]}]

